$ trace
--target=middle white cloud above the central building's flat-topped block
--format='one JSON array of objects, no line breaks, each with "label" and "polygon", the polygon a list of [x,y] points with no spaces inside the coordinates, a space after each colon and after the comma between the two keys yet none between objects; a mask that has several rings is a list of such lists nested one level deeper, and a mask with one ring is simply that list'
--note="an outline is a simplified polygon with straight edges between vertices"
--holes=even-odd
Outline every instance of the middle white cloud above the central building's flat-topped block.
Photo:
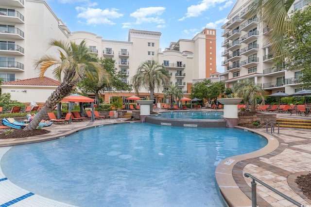
[{"label": "middle white cloud above the central building's flat-topped block", "polygon": [[163,24],[165,23],[164,19],[161,19],[159,16],[163,14],[165,11],[165,7],[146,7],[146,8],[139,8],[130,16],[136,18],[135,24],[142,24],[142,23],[156,23],[156,24]]}]

